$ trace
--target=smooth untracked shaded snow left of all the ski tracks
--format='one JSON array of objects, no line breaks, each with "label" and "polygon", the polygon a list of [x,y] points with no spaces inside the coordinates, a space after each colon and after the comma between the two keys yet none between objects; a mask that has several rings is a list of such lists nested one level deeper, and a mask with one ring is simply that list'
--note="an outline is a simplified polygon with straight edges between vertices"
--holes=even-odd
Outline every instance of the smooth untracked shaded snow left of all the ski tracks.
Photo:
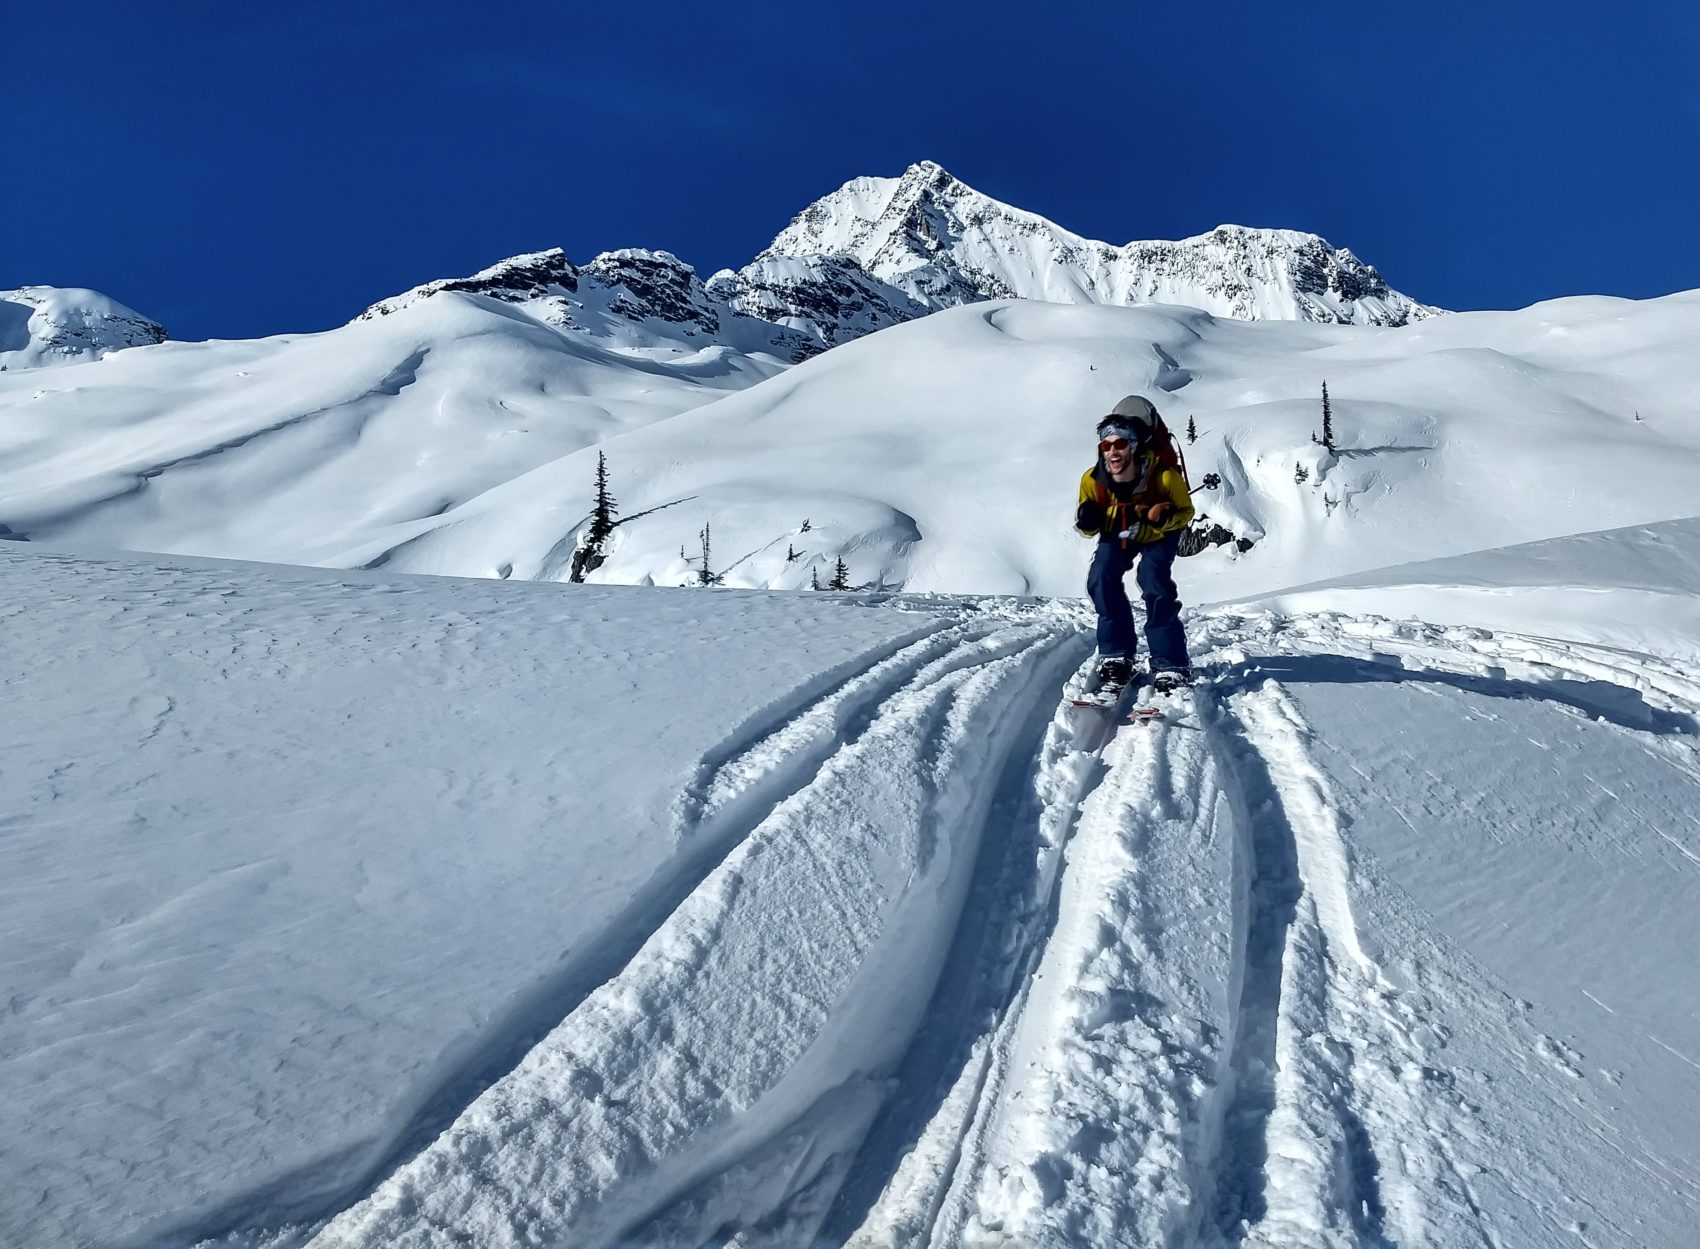
[{"label": "smooth untracked shaded snow left of all the ski tracks", "polygon": [[719,765],[937,629],[824,598],[0,568],[7,1246],[347,1203],[707,873],[743,819],[690,800]]}]

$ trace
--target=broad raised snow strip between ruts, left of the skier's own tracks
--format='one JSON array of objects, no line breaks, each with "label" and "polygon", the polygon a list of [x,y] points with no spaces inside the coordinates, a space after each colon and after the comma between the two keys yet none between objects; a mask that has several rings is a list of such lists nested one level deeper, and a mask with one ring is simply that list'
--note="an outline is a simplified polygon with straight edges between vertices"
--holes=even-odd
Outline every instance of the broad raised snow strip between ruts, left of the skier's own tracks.
[{"label": "broad raised snow strip between ruts, left of the skier's own tracks", "polygon": [[[740,812],[740,797],[794,770],[802,724],[699,780],[683,834],[729,819],[726,858],[619,975],[313,1244],[588,1247],[663,1212],[668,1239],[695,1242],[831,1191],[932,991],[1020,709],[1049,709],[1068,637],[969,625],[937,658],[918,644],[877,705],[804,715],[833,726],[833,749],[768,811]],[[779,1178],[753,1179],[750,1157]]]}]

